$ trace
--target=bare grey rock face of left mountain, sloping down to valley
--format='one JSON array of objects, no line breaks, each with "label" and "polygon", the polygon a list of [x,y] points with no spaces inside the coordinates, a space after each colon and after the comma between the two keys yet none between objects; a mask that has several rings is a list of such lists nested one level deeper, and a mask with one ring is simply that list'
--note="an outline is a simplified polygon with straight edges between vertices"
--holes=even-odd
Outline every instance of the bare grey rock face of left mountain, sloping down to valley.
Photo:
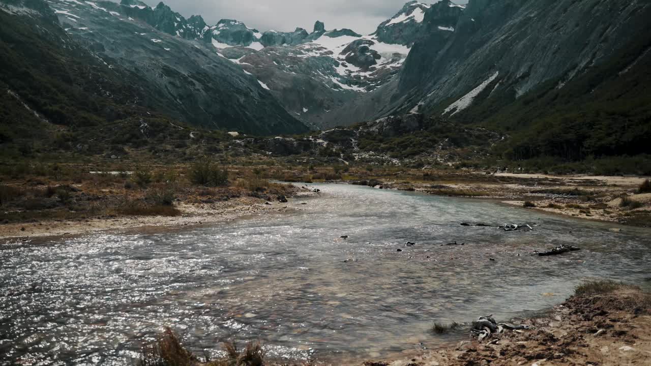
[{"label": "bare grey rock face of left mountain, sloping down to valley", "polygon": [[[14,0],[0,3],[0,10],[18,8]],[[36,7],[30,7],[33,3]],[[307,130],[242,68],[181,36],[178,27],[186,27],[189,33],[190,23],[177,19],[164,5],[152,9],[132,1],[118,5],[107,1],[24,0],[21,7],[27,10],[11,14],[33,17],[34,9],[51,9],[45,13],[46,19],[51,19],[53,11],[58,17],[53,26],[70,38],[68,42],[84,46],[108,68],[137,75],[124,79],[130,87],[146,91],[132,104],[156,107],[165,115],[206,128],[257,134]],[[128,15],[134,12],[143,18]],[[197,18],[193,22],[202,24]]]}]

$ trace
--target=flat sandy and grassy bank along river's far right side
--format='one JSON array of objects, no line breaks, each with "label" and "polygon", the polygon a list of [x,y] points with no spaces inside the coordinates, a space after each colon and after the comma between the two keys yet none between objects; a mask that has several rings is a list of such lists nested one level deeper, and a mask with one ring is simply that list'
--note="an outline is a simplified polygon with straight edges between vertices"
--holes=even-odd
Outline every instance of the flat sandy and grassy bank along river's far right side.
[{"label": "flat sandy and grassy bank along river's far right side", "polygon": [[378,176],[349,180],[383,189],[413,190],[432,195],[493,199],[533,210],[633,225],[651,226],[651,193],[641,193],[645,177],[551,176],[511,173],[454,172],[412,176]]}]

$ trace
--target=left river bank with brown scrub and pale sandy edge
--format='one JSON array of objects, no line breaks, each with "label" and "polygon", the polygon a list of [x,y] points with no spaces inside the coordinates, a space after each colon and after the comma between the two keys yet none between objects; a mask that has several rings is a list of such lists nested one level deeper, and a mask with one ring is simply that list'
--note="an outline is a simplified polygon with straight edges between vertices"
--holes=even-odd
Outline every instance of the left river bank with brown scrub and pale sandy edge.
[{"label": "left river bank with brown scrub and pale sandy edge", "polygon": [[0,239],[219,223],[296,210],[287,197],[315,194],[249,169],[216,186],[196,184],[192,171],[174,167],[153,173],[87,169],[0,184]]}]

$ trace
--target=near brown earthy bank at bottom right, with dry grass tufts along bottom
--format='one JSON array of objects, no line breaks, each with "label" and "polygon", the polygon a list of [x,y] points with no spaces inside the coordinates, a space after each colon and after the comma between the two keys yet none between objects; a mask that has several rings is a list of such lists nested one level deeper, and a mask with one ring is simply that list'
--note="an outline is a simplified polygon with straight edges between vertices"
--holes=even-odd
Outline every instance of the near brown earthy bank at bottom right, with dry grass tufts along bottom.
[{"label": "near brown earthy bank at bottom right, with dry grass tufts along bottom", "polygon": [[[595,281],[577,287],[574,296],[542,317],[520,320],[527,330],[506,330],[487,339],[460,341],[454,346],[423,350],[408,359],[366,361],[363,366],[467,366],[467,365],[646,365],[651,361],[651,296],[639,287]],[[471,326],[464,326],[471,328]],[[146,348],[143,359],[157,365],[219,366],[229,361],[255,359],[242,365],[264,363],[264,350],[256,343],[241,354],[229,350],[229,359],[202,363],[171,330]],[[149,364],[149,363],[148,363]],[[323,365],[323,363],[303,363]],[[360,365],[360,363],[337,363]]]}]

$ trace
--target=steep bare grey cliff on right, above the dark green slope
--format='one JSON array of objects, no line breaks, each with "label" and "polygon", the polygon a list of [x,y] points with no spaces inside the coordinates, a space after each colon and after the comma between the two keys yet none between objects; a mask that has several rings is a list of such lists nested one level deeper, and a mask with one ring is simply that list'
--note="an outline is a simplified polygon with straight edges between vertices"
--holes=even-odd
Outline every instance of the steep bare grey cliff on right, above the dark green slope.
[{"label": "steep bare grey cliff on right, above the dark green slope", "polygon": [[401,110],[458,115],[547,81],[562,88],[645,34],[650,16],[646,1],[471,0],[452,35],[428,31],[413,47],[397,89],[413,98]]}]

